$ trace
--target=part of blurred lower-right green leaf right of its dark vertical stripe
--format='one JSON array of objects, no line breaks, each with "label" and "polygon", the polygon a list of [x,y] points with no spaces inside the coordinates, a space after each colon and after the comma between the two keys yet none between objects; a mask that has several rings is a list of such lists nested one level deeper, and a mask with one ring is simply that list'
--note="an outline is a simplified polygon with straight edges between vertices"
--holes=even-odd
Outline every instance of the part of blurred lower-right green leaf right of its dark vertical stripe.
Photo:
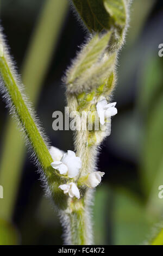
[{"label": "part of blurred lower-right green leaf right of its dark vertical stripe", "polygon": [[114,245],[139,245],[147,239],[154,220],[149,218],[145,206],[129,191],[118,190],[114,195]]}]

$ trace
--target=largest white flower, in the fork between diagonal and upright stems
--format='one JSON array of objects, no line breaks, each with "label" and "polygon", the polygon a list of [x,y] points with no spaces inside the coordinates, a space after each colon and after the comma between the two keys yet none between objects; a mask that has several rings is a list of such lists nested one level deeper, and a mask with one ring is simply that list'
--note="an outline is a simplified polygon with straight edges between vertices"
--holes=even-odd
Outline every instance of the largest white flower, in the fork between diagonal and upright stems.
[{"label": "largest white flower, in the fork between diagonal and upright stems", "polygon": [[79,174],[79,170],[82,167],[82,161],[80,157],[76,156],[76,154],[68,150],[67,153],[61,154],[61,150],[57,151],[53,149],[54,155],[56,153],[56,157],[53,160],[54,162],[51,163],[51,166],[54,169],[59,170],[61,175],[67,175],[69,178],[74,178]]}]

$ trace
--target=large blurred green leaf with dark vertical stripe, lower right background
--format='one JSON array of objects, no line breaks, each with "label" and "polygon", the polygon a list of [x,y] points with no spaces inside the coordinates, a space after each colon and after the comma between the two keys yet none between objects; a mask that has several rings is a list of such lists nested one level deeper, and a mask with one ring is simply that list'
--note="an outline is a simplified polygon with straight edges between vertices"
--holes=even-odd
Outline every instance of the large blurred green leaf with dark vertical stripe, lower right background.
[{"label": "large blurred green leaf with dark vertical stripe, lower right background", "polygon": [[139,245],[155,222],[129,190],[104,184],[97,188],[93,216],[96,245]]}]

